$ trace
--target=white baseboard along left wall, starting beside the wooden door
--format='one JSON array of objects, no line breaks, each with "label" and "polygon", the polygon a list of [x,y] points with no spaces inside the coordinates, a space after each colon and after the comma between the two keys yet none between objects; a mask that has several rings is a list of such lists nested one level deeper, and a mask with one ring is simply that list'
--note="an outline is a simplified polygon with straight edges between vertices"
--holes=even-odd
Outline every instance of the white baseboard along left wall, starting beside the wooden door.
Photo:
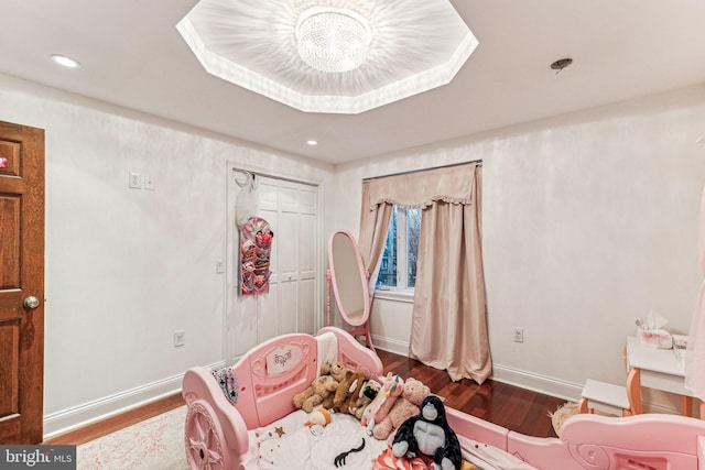
[{"label": "white baseboard along left wall, starting beside the wooden door", "polygon": [[[225,365],[225,361],[209,365]],[[181,392],[183,373],[44,416],[44,440]]]}]

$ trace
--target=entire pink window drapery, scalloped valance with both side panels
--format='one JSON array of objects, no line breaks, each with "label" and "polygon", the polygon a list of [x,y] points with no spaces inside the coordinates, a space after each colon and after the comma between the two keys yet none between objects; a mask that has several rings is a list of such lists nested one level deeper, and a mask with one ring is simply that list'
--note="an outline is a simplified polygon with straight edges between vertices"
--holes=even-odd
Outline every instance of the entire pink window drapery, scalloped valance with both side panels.
[{"label": "entire pink window drapery, scalloped valance with both side panels", "polygon": [[366,266],[373,272],[392,206],[423,208],[409,353],[447,370],[453,380],[468,378],[478,383],[491,373],[480,237],[481,175],[481,166],[470,163],[365,183],[359,242]]}]

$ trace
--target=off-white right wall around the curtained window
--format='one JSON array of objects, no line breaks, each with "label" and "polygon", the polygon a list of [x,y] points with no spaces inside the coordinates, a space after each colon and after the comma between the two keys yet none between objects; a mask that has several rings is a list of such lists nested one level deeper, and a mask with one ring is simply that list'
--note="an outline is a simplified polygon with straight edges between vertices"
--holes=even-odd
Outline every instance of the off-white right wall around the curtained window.
[{"label": "off-white right wall around the curtained window", "polygon": [[[495,379],[577,397],[587,378],[623,382],[625,337],[649,309],[687,332],[703,134],[698,86],[347,164],[336,168],[335,226],[358,233],[365,177],[482,159]],[[376,304],[376,343],[399,350],[411,304]]]}]

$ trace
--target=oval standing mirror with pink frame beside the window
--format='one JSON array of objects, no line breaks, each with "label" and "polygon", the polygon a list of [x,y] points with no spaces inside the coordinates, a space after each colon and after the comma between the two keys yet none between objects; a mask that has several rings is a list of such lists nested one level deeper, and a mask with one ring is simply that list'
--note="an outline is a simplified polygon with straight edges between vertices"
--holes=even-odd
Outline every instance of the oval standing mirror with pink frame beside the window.
[{"label": "oval standing mirror with pink frame beside the window", "polygon": [[365,325],[370,316],[370,293],[360,249],[350,232],[336,230],[330,234],[328,265],[343,320],[354,327]]}]

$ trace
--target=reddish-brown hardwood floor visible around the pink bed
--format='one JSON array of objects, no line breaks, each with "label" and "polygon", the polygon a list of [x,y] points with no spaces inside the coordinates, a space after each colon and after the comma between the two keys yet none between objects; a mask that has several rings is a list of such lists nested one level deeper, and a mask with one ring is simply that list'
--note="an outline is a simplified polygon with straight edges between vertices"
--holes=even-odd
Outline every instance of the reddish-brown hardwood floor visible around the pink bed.
[{"label": "reddish-brown hardwood floor visible around the pink bed", "polygon": [[[430,368],[403,356],[377,350],[384,364],[384,373],[413,376],[445,397],[446,406],[529,436],[555,437],[549,413],[565,403],[562,398],[543,395],[491,380],[482,385],[463,379],[453,382],[445,371]],[[47,445],[80,445],[107,434],[149,419],[184,405],[181,394],[167,396],[123,414],[53,437]]]}]

